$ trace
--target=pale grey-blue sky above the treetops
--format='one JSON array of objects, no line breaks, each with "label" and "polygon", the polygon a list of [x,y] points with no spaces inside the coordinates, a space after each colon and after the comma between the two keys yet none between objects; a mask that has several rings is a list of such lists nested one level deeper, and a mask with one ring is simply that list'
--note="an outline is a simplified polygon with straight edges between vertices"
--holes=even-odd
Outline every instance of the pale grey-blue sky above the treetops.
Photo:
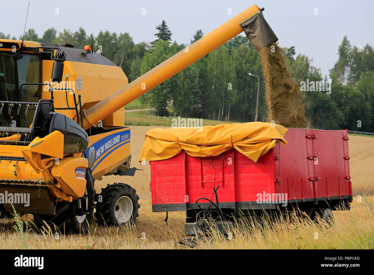
[{"label": "pale grey-blue sky above the treetops", "polygon": [[[374,46],[374,1],[2,1],[0,31],[19,37],[34,28],[42,37],[54,27],[76,31],[83,27],[96,36],[100,30],[129,33],[135,43],[155,40],[156,25],[165,20],[172,39],[189,44],[196,30],[209,33],[252,4],[264,7],[264,17],[282,47],[295,46],[296,54],[313,58],[312,65],[329,75],[337,61],[338,46],[346,35],[352,46]],[[229,15],[228,10],[232,10]],[[58,13],[58,15],[57,15]],[[143,13],[143,14],[142,14]],[[145,14],[144,14],[145,13]],[[11,22],[11,23],[10,23]],[[244,35],[244,33],[242,33]],[[127,72],[125,72],[127,73]]]}]

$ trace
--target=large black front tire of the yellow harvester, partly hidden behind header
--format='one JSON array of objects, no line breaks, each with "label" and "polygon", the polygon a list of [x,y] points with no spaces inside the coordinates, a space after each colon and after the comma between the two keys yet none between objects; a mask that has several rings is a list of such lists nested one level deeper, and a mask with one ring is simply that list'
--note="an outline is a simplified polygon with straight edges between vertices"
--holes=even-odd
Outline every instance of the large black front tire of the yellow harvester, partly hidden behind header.
[{"label": "large black front tire of the yellow harvester, partly hidden behind header", "polygon": [[[45,222],[48,224],[53,233],[62,233],[64,235],[87,233],[93,221],[93,210],[95,209],[95,188],[93,187],[94,179],[91,175],[91,169],[87,169],[87,185],[89,190],[89,200],[91,200],[90,214],[83,216],[74,216],[74,203],[57,202],[56,212],[53,216],[34,214],[34,224],[40,232],[48,232]],[[45,222],[44,222],[45,221]]]}]

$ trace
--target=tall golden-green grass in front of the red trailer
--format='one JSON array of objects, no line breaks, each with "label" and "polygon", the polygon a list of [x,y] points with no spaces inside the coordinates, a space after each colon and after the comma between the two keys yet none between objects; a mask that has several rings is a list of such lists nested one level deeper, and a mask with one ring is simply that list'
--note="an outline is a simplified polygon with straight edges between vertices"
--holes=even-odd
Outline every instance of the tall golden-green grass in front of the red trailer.
[{"label": "tall golden-green grass in front of the red trailer", "polygon": [[[232,239],[214,233],[213,242],[199,242],[199,248],[212,249],[373,249],[374,211],[371,202],[354,203],[351,211],[334,211],[335,224],[319,224],[297,217],[266,219],[261,226],[234,229]],[[258,223],[257,223],[258,224]],[[253,228],[254,227],[254,228]],[[253,229],[249,229],[253,228]]]}]

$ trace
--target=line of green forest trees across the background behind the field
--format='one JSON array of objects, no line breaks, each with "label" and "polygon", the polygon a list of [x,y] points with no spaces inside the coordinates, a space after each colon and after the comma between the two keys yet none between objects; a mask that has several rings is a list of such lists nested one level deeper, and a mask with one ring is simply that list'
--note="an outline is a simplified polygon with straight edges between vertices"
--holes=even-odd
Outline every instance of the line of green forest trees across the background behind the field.
[{"label": "line of green forest trees across the background behind the field", "polygon": [[[100,31],[96,37],[80,27],[72,32],[46,30],[39,37],[34,29],[25,32],[25,40],[43,43],[70,43],[83,49],[92,43],[95,51],[123,69],[129,82],[154,68],[186,44],[172,42],[172,32],[165,21],[156,26],[156,40],[134,43],[129,33]],[[203,37],[197,30],[190,40]],[[10,35],[0,33],[0,38]],[[15,39],[16,37],[12,37]],[[22,39],[22,36],[19,37]],[[187,48],[188,49],[188,48]],[[309,56],[295,55],[295,48],[283,48],[286,66],[297,83],[327,81]],[[221,121],[254,121],[257,77],[260,77],[258,121],[266,121],[265,81],[260,55],[246,37],[236,36],[215,51],[153,88],[140,100],[149,104],[157,116],[183,116]],[[350,45],[347,37],[338,46],[338,60],[329,70],[331,93],[307,91],[306,116],[311,128],[350,129],[374,132],[374,49]]]}]

